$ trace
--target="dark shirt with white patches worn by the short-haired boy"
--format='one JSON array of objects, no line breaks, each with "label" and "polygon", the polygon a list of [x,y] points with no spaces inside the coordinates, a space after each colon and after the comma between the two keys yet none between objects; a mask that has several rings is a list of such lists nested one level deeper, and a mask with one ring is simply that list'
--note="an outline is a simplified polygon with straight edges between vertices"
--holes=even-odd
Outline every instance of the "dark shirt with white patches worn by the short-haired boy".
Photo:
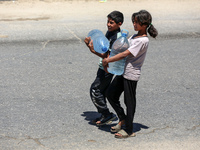
[{"label": "dark shirt with white patches worn by the short-haired boy", "polygon": [[[109,51],[111,51],[113,43],[115,42],[116,39],[118,39],[121,36],[121,30],[119,28],[118,30],[113,31],[113,32],[107,31],[105,36],[110,41]],[[99,59],[99,68],[104,70],[103,65],[102,65],[102,60],[103,60],[102,58]]]}]

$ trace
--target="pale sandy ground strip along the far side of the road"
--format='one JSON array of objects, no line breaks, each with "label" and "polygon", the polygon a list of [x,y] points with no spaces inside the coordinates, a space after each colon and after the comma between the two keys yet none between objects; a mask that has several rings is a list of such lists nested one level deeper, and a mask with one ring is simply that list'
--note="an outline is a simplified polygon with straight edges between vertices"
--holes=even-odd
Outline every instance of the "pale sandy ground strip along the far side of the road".
[{"label": "pale sandy ground strip along the far side of the road", "polygon": [[17,0],[0,1],[0,21],[47,20],[61,18],[84,18],[105,16],[113,10],[130,15],[140,9],[147,9],[153,16],[165,18],[176,15],[198,15],[199,0]]}]

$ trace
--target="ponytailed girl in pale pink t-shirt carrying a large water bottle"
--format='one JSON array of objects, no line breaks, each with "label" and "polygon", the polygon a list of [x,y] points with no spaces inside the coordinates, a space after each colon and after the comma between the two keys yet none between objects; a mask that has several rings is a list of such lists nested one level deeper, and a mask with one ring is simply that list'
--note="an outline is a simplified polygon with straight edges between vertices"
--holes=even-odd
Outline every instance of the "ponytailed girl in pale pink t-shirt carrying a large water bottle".
[{"label": "ponytailed girl in pale pink t-shirt carrying a large water bottle", "polygon": [[[116,76],[106,93],[108,101],[120,120],[116,126],[111,128],[111,132],[118,132],[115,133],[116,138],[135,136],[135,133],[133,133],[133,118],[136,108],[136,87],[149,44],[147,32],[153,38],[158,35],[157,30],[152,25],[152,17],[148,11],[141,10],[133,13],[132,22],[134,30],[138,33],[128,39],[130,47],[122,53],[103,59],[103,66],[107,70],[109,62],[118,61],[126,57],[123,76]],[[123,91],[126,115],[119,101]],[[122,130],[121,126],[124,124],[125,129]]]}]

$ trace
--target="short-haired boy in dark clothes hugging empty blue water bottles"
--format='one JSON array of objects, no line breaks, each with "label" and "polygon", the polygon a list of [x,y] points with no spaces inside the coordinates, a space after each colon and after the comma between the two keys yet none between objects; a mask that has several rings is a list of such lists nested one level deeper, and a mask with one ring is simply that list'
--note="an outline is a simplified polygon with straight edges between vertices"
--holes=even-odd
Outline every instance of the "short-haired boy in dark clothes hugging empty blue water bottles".
[{"label": "short-haired boy in dark clothes hugging empty blue water bottles", "polygon": [[[120,26],[123,24],[124,16],[119,11],[113,11],[107,16],[107,27],[108,31],[106,33],[106,38],[110,41],[110,49],[114,41],[121,36]],[[85,38],[85,44],[88,46],[90,51],[100,57],[99,69],[97,71],[97,76],[90,87],[90,97],[92,102],[96,106],[99,113],[101,113],[100,118],[96,118],[92,122],[96,125],[105,125],[108,122],[116,119],[116,116],[111,113],[106,104],[105,92],[112,81],[113,74],[106,73],[102,66],[102,59],[109,56],[110,51],[106,53],[97,53],[94,50],[93,43],[90,41],[90,37]]]}]

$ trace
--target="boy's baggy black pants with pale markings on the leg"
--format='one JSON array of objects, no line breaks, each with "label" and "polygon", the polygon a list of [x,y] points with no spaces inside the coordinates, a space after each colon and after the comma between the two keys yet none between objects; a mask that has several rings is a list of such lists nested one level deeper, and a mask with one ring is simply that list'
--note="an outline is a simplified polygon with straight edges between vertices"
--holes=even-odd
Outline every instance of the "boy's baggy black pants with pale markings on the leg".
[{"label": "boy's baggy black pants with pale markings on the leg", "polygon": [[98,69],[97,76],[90,87],[90,97],[99,113],[108,116],[110,111],[106,104],[105,92],[112,81],[113,75]]}]

